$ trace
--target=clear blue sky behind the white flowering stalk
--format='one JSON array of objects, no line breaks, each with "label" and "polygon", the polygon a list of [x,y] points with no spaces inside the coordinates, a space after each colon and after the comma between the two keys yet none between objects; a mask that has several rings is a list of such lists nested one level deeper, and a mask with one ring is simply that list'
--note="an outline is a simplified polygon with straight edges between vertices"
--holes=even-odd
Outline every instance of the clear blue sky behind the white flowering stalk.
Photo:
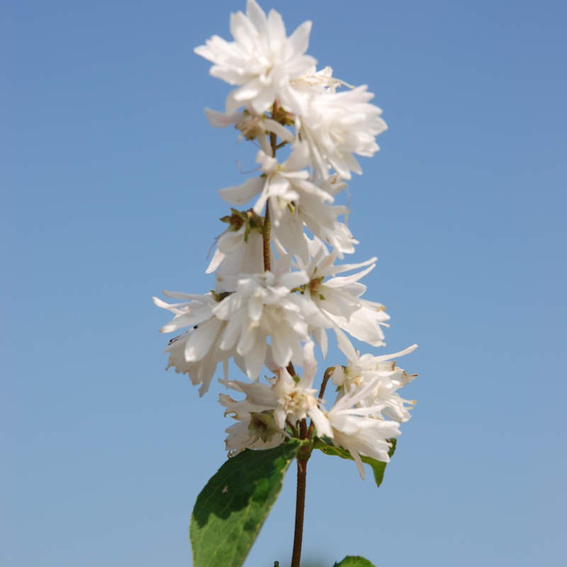
[{"label": "clear blue sky behind the white flowering stalk", "polygon": [[[193,47],[244,0],[8,1],[0,563],[190,564],[228,421],[164,372],[162,288],[202,293],[252,157],[203,108]],[[564,564],[566,5],[271,0],[390,130],[351,184],[356,259],[417,398],[381,489],[310,461],[305,557],[380,567]],[[7,128],[6,128],[7,127]],[[381,354],[381,353],[380,353]],[[247,567],[288,561],[291,473]]]}]

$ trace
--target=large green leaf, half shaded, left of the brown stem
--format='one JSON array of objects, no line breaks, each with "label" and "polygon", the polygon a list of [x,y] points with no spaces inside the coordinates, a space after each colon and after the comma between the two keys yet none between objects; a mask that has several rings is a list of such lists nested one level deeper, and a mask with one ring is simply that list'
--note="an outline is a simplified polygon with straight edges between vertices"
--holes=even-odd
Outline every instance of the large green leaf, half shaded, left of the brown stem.
[{"label": "large green leaf, half shaded, left of the brown stem", "polygon": [[194,567],[244,563],[300,446],[246,449],[210,478],[197,497],[189,526]]}]

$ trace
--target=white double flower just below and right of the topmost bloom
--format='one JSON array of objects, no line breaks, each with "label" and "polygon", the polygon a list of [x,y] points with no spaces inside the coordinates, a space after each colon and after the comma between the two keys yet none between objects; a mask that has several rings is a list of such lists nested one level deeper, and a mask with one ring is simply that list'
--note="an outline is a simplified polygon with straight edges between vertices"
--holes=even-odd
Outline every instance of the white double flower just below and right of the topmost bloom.
[{"label": "white double flower just below and right of the topmost bloom", "polygon": [[298,119],[299,136],[309,144],[313,166],[326,177],[329,168],[344,179],[361,174],[353,154],[371,157],[379,150],[376,136],[386,130],[374,94],[366,85],[347,91],[324,91],[310,98],[309,111]]}]

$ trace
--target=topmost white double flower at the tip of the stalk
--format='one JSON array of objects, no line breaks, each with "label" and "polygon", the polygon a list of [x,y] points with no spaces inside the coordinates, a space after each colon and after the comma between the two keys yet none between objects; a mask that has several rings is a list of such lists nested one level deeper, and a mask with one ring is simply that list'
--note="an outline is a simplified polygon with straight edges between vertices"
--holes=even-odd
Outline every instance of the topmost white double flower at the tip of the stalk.
[{"label": "topmost white double flower at the tip of the stalk", "polygon": [[316,61],[304,55],[309,45],[311,22],[306,21],[288,38],[283,20],[271,10],[266,17],[254,0],[247,1],[247,14],[230,15],[230,33],[235,41],[218,35],[195,48],[197,55],[213,62],[210,74],[240,88],[226,101],[229,114],[246,106],[254,113],[267,111],[274,101],[293,113],[305,113],[305,96],[291,85],[309,72]]}]

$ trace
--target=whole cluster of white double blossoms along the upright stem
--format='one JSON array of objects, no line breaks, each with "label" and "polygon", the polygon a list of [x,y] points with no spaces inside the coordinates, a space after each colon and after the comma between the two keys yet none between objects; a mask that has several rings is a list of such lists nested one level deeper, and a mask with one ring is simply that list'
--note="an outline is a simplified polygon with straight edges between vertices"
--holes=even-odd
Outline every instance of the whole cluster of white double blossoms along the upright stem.
[{"label": "whole cluster of white double blossoms along the upright stem", "polygon": [[[335,198],[352,172],[361,174],[356,156],[374,155],[387,127],[366,86],[335,79],[330,67],[316,69],[305,54],[310,28],[305,22],[288,37],[279,13],[266,15],[248,0],[247,13],[231,15],[234,41],[214,35],[196,48],[213,63],[213,77],[235,86],[224,113],[206,110],[210,123],[234,126],[254,142],[259,167],[220,190],[234,208],[221,219],[228,228],[207,269],[215,291],[166,291],[179,303],[154,301],[174,315],[162,332],[182,332],[166,349],[168,368],[188,374],[203,395],[223,363],[221,382],[244,395],[220,395],[225,415],[236,420],[227,430],[230,456],[316,435],[349,451],[364,478],[361,456],[388,461],[388,440],[410,417],[413,402],[398,388],[412,376],[393,357],[415,345],[375,357],[360,356],[352,344],[383,346],[389,317],[380,303],[362,298],[360,280],[376,259],[335,263],[358,244],[345,222],[349,210]],[[281,159],[276,153],[284,147]],[[315,347],[326,357],[329,335],[346,364],[329,366],[318,393]],[[249,381],[228,379],[231,359]],[[271,376],[265,383],[263,374]],[[337,388],[330,407],[321,399],[329,378]]]}]

